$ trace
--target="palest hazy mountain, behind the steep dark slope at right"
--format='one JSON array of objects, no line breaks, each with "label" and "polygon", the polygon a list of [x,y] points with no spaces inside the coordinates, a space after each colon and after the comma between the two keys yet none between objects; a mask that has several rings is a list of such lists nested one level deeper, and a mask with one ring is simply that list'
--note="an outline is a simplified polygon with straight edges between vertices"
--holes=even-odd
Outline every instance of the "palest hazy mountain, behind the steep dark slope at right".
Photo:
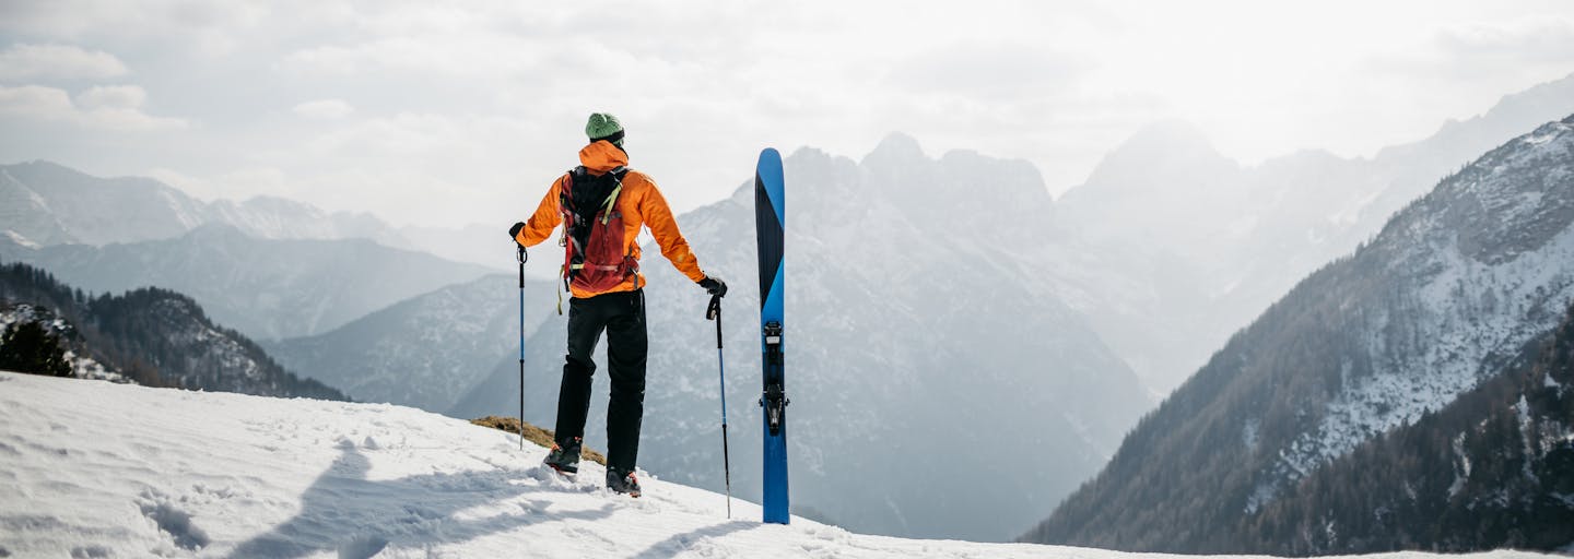
[{"label": "palest hazy mountain, behind the steep dark slope at right", "polygon": [[1256,166],[1218,154],[1185,122],[1154,124],[1056,201],[1064,250],[1099,270],[1069,278],[1084,294],[1072,303],[1154,394],[1168,394],[1445,174],[1569,113],[1574,75],[1373,159],[1303,151]]}]

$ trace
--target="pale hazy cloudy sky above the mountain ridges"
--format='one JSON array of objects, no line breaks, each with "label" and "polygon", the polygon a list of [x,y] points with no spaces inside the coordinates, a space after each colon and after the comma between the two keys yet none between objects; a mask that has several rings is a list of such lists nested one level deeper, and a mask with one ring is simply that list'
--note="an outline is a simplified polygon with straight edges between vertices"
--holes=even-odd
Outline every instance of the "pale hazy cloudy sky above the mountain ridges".
[{"label": "pale hazy cloudy sky above the mountain ridges", "polygon": [[686,210],[763,146],[900,130],[1059,193],[1155,119],[1247,163],[1371,155],[1571,72],[1561,0],[0,0],[0,163],[505,228],[597,110]]}]

